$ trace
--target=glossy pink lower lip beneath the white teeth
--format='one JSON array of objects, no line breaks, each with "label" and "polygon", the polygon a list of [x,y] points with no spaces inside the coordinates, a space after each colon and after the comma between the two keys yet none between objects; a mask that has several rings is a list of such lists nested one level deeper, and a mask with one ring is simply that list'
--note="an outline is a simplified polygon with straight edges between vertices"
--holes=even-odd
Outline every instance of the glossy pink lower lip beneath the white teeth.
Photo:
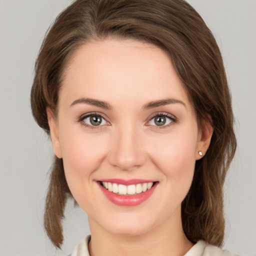
[{"label": "glossy pink lower lip beneath the white teeth", "polygon": [[119,206],[135,206],[142,203],[146,199],[148,199],[148,197],[153,193],[157,183],[154,183],[153,186],[150,189],[146,190],[145,192],[141,192],[134,195],[115,194],[113,192],[108,191],[106,188],[104,188],[100,184],[100,182],[98,182],[98,185],[101,191],[103,192],[103,194],[114,204],[117,204]]}]

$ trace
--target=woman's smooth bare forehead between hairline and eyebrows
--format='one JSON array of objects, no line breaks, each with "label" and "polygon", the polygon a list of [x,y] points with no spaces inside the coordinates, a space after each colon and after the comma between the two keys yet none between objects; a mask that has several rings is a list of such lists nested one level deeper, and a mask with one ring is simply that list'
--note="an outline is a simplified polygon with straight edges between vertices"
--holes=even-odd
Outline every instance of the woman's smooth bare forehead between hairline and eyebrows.
[{"label": "woman's smooth bare forehead between hairline and eyebrows", "polygon": [[86,43],[70,58],[59,101],[92,97],[141,103],[166,97],[188,102],[168,55],[160,48],[130,39]]}]

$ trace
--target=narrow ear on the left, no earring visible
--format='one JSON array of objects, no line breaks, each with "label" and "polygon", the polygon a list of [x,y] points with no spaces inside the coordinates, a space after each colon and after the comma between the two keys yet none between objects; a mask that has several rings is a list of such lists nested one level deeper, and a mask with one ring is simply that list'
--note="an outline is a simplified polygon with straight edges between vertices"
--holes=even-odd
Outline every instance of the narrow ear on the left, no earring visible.
[{"label": "narrow ear on the left, no earring visible", "polygon": [[61,153],[60,143],[59,143],[59,138],[58,138],[57,123],[56,123],[56,120],[55,120],[55,118],[52,114],[52,111],[49,107],[46,108],[46,112],[47,112],[48,124],[49,124],[49,128],[50,128],[50,138],[51,138],[52,147],[53,147],[55,155],[58,158],[61,158],[62,153]]}]

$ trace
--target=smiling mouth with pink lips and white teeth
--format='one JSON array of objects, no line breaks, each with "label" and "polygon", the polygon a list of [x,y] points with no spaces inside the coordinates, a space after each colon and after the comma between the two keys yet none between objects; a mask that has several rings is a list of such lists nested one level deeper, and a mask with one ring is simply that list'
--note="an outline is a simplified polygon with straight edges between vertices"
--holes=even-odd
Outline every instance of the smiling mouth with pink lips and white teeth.
[{"label": "smiling mouth with pink lips and white teeth", "polygon": [[114,204],[119,206],[135,206],[148,199],[159,182],[152,180],[122,181],[114,179],[102,180],[97,183],[107,199]]}]

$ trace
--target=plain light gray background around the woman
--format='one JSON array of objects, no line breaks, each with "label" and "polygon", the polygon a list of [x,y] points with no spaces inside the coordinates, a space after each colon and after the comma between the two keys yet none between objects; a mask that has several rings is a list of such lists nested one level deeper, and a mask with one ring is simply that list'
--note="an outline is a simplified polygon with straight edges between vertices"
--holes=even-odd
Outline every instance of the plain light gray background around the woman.
[{"label": "plain light gray background around the woman", "polygon": [[[238,148],[225,183],[224,248],[256,255],[256,1],[189,0],[215,35],[233,97]],[[89,233],[68,202],[62,251],[42,227],[52,159],[29,108],[33,64],[44,33],[70,0],[0,0],[0,255],[67,255]]]}]

